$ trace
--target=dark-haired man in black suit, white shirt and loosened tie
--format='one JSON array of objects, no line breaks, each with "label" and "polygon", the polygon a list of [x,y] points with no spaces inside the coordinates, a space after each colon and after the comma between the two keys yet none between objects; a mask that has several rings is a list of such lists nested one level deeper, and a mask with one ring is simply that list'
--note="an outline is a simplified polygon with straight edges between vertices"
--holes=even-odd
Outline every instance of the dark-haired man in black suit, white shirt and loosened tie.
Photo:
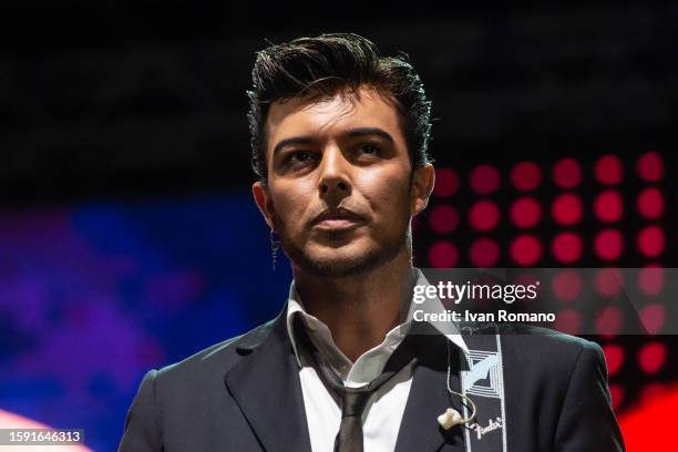
[{"label": "dark-haired man in black suit, white shirt and loosened tie", "polygon": [[623,450],[598,346],[496,336],[487,356],[501,357],[506,390],[494,403],[461,381],[475,339],[417,335],[404,315],[425,281],[411,218],[434,184],[430,102],[407,59],[323,34],[259,52],[253,80],[253,194],[274,261],[281,245],[291,264],[288,301],[270,322],[150,371],[120,449]]}]

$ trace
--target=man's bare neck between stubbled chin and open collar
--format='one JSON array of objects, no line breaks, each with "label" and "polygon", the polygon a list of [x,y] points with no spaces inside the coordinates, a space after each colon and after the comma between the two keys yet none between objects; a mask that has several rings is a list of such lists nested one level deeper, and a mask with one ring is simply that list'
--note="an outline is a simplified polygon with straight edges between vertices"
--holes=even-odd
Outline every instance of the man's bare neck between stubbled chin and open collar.
[{"label": "man's bare neck between stubbled chin and open collar", "polygon": [[356,361],[381,343],[409,306],[412,264],[407,250],[359,275],[321,277],[294,268],[295,286],[306,310],[330,329],[337,347]]}]

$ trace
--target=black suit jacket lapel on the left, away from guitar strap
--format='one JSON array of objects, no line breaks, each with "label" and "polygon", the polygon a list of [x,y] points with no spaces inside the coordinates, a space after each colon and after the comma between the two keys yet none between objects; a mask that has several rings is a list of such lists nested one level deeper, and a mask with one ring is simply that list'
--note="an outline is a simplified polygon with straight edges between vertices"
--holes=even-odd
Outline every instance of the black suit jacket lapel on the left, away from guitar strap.
[{"label": "black suit jacket lapel on the left, away from guitar strap", "polygon": [[224,381],[264,450],[310,452],[299,369],[286,311],[237,345],[243,359]]}]

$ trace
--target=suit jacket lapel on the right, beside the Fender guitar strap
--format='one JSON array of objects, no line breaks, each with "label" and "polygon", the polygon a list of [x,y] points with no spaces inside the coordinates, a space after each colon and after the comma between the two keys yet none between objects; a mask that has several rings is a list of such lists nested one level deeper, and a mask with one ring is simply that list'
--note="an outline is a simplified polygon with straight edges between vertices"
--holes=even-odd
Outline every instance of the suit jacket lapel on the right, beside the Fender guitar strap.
[{"label": "suit jacket lapel on the right, beside the Fender guitar strap", "polygon": [[[419,360],[400,424],[396,452],[430,452],[443,445],[448,445],[445,451],[463,451],[462,427],[456,425],[445,431],[438,423],[438,417],[450,407],[462,412],[459,398],[450,396],[445,383],[448,339],[440,333],[422,333],[419,339]],[[450,351],[451,388],[460,392],[459,349],[451,345]]]}]

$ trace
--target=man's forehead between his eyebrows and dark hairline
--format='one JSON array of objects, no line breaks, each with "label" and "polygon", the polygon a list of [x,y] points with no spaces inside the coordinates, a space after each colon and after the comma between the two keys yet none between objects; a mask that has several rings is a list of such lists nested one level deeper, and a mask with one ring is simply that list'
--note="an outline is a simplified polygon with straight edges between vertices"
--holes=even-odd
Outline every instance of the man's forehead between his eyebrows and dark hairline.
[{"label": "man's forehead between his eyebrows and dark hairline", "polygon": [[373,89],[360,88],[355,93],[337,93],[332,97],[292,97],[273,103],[266,120],[267,151],[291,136],[331,137],[355,127],[382,129],[404,146],[396,101],[384,99]]}]

